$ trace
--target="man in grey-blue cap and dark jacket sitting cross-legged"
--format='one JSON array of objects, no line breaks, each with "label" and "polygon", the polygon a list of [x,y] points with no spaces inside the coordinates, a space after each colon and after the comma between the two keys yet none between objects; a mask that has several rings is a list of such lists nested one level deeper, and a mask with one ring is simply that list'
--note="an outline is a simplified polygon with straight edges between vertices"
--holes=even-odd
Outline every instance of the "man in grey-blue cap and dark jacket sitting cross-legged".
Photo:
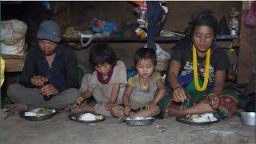
[{"label": "man in grey-blue cap and dark jacket sitting cross-legged", "polygon": [[[38,107],[63,109],[79,96],[77,59],[73,50],[60,44],[61,32],[54,21],[44,21],[38,29],[38,46],[26,54],[22,78],[8,86],[13,113]],[[46,81],[46,85],[38,86]],[[47,99],[47,101],[45,100]]]}]

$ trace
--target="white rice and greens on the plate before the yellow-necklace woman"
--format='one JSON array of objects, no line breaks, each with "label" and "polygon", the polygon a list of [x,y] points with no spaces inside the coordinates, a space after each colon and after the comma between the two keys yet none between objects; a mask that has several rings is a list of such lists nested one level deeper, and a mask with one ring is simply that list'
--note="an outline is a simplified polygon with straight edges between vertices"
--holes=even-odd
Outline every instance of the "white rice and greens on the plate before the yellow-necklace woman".
[{"label": "white rice and greens on the plate before the yellow-necklace woman", "polygon": [[186,118],[189,122],[216,122],[218,120],[213,113],[187,115]]}]

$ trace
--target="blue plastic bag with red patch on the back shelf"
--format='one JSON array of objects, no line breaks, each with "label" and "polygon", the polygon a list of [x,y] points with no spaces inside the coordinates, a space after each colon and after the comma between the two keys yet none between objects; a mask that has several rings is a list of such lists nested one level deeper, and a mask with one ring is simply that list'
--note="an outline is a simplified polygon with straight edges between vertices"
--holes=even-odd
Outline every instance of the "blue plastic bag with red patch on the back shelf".
[{"label": "blue plastic bag with red patch on the back shelf", "polygon": [[117,29],[117,24],[114,22],[107,22],[107,21],[102,21],[98,18],[94,18],[90,22],[91,29],[98,34],[108,33],[111,34],[113,30]]}]

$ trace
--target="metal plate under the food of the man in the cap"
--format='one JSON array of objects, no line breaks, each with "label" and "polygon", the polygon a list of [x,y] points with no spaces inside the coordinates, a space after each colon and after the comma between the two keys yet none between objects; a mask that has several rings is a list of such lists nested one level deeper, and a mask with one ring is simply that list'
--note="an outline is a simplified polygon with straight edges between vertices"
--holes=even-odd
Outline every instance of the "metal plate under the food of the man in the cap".
[{"label": "metal plate under the food of the man in the cap", "polygon": [[52,118],[54,115],[58,114],[58,110],[56,110],[56,109],[55,109],[55,113],[46,114],[46,115],[42,115],[42,116],[25,116],[25,112],[28,112],[28,111],[19,112],[18,115],[21,118],[25,118],[26,120],[29,120],[29,121],[43,121],[43,120]]}]

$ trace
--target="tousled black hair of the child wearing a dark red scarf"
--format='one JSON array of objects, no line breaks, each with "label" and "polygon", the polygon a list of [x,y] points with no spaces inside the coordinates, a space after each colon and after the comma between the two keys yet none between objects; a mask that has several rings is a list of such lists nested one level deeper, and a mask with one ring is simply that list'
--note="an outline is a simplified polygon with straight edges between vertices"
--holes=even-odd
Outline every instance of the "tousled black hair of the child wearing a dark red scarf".
[{"label": "tousled black hair of the child wearing a dark red scarf", "polygon": [[89,62],[93,67],[103,65],[104,63],[114,66],[116,65],[117,58],[109,44],[98,43],[90,49]]}]

